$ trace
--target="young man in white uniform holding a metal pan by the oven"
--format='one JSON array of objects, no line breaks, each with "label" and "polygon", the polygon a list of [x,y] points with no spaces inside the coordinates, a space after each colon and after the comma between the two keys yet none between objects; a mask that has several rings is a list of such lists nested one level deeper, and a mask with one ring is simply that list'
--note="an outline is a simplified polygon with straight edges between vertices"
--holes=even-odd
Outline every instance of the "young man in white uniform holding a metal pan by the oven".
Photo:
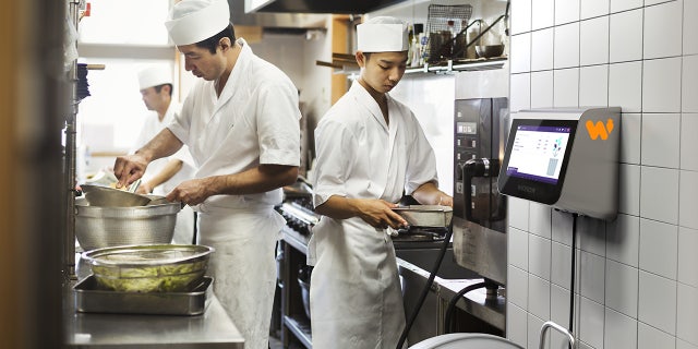
[{"label": "young man in white uniform holding a metal pan by the oven", "polygon": [[407,25],[375,17],[358,26],[360,77],[315,130],[315,210],[309,242],[313,348],[390,348],[405,327],[388,227],[402,193],[453,205],[437,188],[434,153],[414,115],[388,92],[405,73]]}]

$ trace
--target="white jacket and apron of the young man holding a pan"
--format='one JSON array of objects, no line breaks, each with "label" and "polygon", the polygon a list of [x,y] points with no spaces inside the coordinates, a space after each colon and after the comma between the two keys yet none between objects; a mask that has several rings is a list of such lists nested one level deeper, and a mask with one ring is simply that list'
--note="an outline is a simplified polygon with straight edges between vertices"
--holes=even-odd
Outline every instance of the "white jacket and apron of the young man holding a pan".
[{"label": "white jacket and apron of the young man holding a pan", "polygon": [[[410,109],[354,82],[315,130],[314,205],[332,195],[397,202],[436,183],[433,149]],[[395,348],[405,310],[393,242],[359,217],[322,217],[309,242],[314,348]]]}]

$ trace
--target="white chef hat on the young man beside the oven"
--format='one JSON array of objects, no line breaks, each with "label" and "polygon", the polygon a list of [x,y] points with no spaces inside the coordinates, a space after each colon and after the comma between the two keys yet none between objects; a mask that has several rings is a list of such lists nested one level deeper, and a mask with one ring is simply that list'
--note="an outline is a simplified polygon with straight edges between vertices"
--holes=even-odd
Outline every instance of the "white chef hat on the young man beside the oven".
[{"label": "white chef hat on the young man beside the oven", "polygon": [[357,26],[357,50],[363,52],[407,51],[407,24],[390,16],[373,17]]}]

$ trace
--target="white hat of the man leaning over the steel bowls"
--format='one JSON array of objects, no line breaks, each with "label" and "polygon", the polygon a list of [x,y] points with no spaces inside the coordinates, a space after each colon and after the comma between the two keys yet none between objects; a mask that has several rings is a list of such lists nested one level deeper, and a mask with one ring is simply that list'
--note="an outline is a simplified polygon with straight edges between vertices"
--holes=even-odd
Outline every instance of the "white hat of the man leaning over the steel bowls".
[{"label": "white hat of the man leaning over the steel bowls", "polygon": [[182,0],[176,3],[165,22],[177,46],[203,41],[230,24],[226,0]]}]

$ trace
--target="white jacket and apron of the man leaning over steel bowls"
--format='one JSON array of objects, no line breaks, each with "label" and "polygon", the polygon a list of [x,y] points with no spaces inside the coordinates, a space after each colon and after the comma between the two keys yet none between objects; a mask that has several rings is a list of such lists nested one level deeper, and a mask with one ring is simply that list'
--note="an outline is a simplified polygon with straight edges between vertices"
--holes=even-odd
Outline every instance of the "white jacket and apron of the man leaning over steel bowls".
[{"label": "white jacket and apron of the man leaning over steel bowls", "polygon": [[[261,164],[299,166],[298,91],[284,72],[242,51],[220,97],[200,80],[168,128],[189,145],[196,178],[239,173]],[[266,349],[276,280],[275,242],[285,220],[274,210],[281,189],[215,195],[200,204],[200,242],[213,246],[214,290],[245,338]]]}]

